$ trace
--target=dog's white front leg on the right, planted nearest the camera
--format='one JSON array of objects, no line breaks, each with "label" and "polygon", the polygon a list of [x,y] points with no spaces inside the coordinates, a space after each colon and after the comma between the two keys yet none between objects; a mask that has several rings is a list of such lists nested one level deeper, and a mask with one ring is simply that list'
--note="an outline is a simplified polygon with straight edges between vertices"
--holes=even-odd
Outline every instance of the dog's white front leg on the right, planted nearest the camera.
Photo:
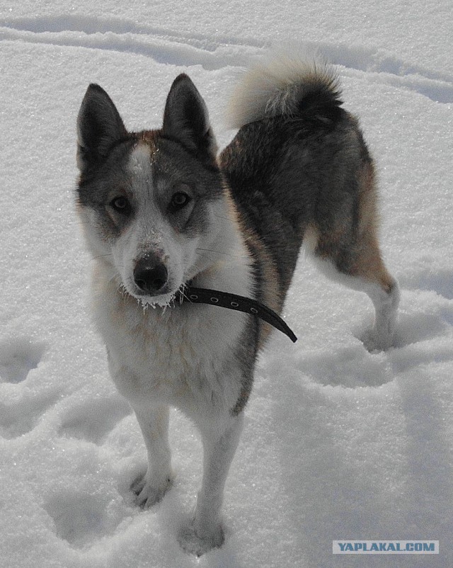
[{"label": "dog's white front leg on the right, planted nearest the camera", "polygon": [[197,496],[195,515],[190,526],[180,535],[180,544],[187,552],[201,556],[222,546],[224,531],[220,522],[224,487],[231,460],[241,436],[243,416],[231,417],[225,428],[218,424],[202,430],[203,478]]}]

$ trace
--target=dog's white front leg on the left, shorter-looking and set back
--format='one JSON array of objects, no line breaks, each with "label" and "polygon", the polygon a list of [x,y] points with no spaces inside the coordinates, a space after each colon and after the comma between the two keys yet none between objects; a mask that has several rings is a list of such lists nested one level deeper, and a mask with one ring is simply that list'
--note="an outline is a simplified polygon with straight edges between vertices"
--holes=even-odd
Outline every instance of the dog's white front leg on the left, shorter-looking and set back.
[{"label": "dog's white front leg on the left, shorter-looking and set back", "polygon": [[147,446],[148,469],[132,484],[137,503],[148,508],[158,503],[171,487],[171,453],[168,445],[168,407],[134,408]]}]

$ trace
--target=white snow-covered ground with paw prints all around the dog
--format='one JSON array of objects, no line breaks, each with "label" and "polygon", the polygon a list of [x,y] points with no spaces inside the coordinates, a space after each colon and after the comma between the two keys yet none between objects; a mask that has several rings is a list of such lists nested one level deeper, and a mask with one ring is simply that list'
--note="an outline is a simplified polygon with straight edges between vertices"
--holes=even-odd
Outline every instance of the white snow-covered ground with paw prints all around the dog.
[{"label": "white snow-covered ground with paw prints all around the dog", "polygon": [[[452,567],[453,57],[450,0],[2,1],[0,5],[1,567]],[[174,411],[175,487],[132,502],[139,428],[108,378],[74,215],[86,86],[130,129],[157,127],[188,72],[219,142],[238,67],[272,40],[338,64],[382,193],[382,248],[402,288],[398,344],[357,339],[371,303],[301,258],[260,358],[226,486],[226,543],[176,542],[200,482],[197,432]],[[434,539],[436,556],[333,556],[333,539]]]}]

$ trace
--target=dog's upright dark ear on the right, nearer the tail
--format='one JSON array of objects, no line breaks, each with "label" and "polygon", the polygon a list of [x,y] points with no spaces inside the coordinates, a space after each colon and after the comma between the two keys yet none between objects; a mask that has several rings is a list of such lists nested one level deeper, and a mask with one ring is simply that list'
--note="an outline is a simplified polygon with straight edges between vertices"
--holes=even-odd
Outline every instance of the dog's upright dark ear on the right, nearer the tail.
[{"label": "dog's upright dark ear on the right, nearer the tail", "polygon": [[185,73],[176,77],[168,93],[162,133],[178,140],[201,159],[215,161],[217,144],[205,101]]}]

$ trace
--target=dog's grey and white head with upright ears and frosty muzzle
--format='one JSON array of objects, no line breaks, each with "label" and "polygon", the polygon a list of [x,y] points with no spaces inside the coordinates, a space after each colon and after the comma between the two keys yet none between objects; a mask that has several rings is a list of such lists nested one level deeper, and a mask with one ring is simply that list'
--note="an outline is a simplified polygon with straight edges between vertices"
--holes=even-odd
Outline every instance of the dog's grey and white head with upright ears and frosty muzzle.
[{"label": "dog's grey and white head with upright ears and frosty muzzle", "polygon": [[144,304],[166,305],[210,266],[224,215],[224,185],[207,108],[179,75],[161,130],[127,132],[103,89],[91,85],[78,118],[78,205],[93,256]]}]

